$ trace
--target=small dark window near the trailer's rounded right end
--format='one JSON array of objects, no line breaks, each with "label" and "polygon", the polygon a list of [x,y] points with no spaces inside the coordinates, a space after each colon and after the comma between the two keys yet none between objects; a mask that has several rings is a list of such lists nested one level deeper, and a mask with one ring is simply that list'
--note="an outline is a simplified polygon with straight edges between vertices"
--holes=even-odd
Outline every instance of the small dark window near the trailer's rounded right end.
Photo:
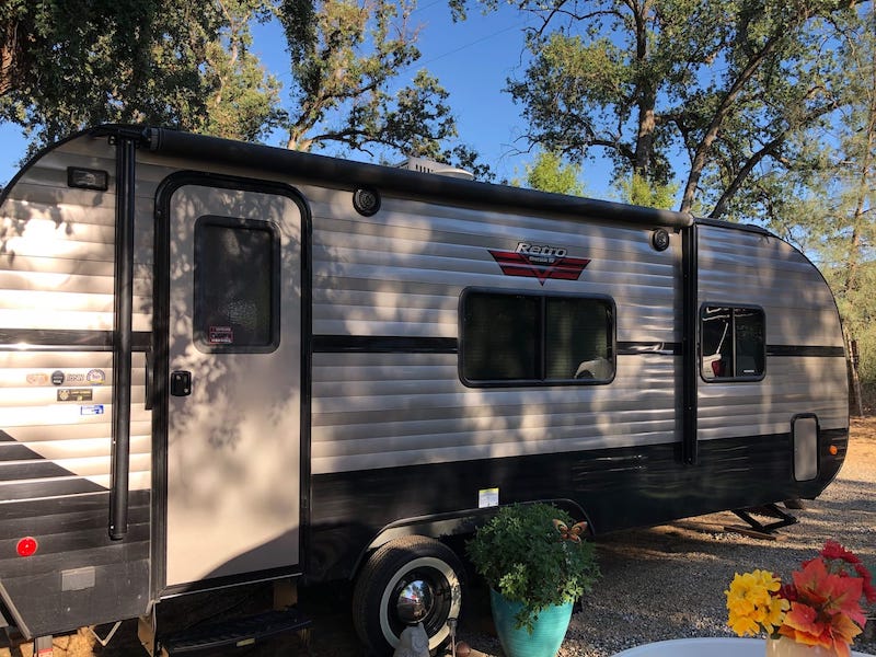
[{"label": "small dark window near the trailer's rounded right end", "polygon": [[765,353],[763,311],[704,306],[700,315],[701,372],[706,381],[758,379]]}]

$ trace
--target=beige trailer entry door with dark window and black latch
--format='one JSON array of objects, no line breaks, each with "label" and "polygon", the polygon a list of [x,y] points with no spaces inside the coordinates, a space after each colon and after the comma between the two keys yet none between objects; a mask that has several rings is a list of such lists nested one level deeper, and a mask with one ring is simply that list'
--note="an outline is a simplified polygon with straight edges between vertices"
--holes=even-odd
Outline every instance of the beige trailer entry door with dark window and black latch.
[{"label": "beige trailer entry door with dark window and black latch", "polygon": [[165,193],[165,589],[299,563],[303,204],[220,184]]}]

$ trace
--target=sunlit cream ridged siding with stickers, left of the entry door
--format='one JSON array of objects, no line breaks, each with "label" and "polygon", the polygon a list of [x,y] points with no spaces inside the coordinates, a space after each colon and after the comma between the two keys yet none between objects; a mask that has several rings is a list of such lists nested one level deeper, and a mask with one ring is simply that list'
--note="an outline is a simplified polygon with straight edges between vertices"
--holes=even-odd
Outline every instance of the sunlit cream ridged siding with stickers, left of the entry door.
[{"label": "sunlit cream ridged siding with stickers, left of the entry door", "polygon": [[[106,171],[108,189],[69,188],[71,166]],[[114,187],[115,148],[105,138],[73,140],[36,160],[15,181],[0,210],[0,331],[21,343],[16,350],[0,350],[0,428],[15,440],[0,441],[0,468],[24,473],[28,459],[43,459],[59,466],[55,477],[66,482],[68,492],[101,491],[110,484]],[[151,327],[151,232],[146,228],[151,215],[151,206],[143,208],[141,216],[149,220],[137,223],[136,332]],[[58,373],[62,379],[53,382]],[[138,491],[151,486],[145,383],[145,356],[135,353],[130,486]],[[13,448],[20,458],[2,456]],[[23,486],[13,476],[0,482],[7,492],[0,494],[0,504],[19,498],[12,489]],[[38,489],[36,497],[61,489],[27,488]]]}]

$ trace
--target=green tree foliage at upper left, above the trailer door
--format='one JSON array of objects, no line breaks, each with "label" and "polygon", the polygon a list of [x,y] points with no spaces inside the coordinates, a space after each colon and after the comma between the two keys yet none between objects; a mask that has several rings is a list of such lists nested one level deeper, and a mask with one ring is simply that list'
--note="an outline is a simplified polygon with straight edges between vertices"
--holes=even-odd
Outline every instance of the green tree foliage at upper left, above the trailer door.
[{"label": "green tree foliage at upper left, above the trailer door", "polygon": [[[0,4],[0,120],[33,148],[100,123],[148,123],[288,146],[431,158],[457,143],[448,93],[419,58],[408,0],[8,0]],[[289,102],[253,51],[279,21]],[[391,92],[394,87],[397,91]],[[373,154],[373,153],[372,153]],[[489,176],[484,165],[471,166]]]}]

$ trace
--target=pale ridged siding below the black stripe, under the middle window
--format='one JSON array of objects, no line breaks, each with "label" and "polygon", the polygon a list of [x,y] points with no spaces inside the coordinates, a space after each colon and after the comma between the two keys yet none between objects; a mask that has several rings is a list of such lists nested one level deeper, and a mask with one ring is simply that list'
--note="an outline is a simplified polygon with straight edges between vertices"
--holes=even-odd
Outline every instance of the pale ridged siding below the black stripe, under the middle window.
[{"label": "pale ridged siding below the black stripe, under the middle window", "polygon": [[[671,361],[621,357],[610,387],[569,392],[466,389],[456,356],[322,355],[312,466],[327,473],[671,442]],[[643,391],[635,385],[643,376],[659,385]]]}]

